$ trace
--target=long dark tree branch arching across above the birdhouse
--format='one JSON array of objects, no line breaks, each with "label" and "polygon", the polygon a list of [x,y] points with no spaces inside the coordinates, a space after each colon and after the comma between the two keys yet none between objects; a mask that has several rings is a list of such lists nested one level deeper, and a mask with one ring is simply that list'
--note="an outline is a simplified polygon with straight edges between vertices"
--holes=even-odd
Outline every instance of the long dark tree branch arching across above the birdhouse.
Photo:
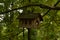
[{"label": "long dark tree branch arching across above the birdhouse", "polygon": [[0,12],[0,14],[5,14],[5,13],[8,13],[8,12],[11,12],[14,10],[23,9],[23,8],[27,8],[27,7],[31,7],[31,6],[39,6],[39,7],[44,8],[44,9],[60,10],[60,7],[50,7],[50,6],[43,5],[43,4],[29,4],[29,5],[26,5],[23,7],[15,8],[15,9],[4,11],[4,12]]}]

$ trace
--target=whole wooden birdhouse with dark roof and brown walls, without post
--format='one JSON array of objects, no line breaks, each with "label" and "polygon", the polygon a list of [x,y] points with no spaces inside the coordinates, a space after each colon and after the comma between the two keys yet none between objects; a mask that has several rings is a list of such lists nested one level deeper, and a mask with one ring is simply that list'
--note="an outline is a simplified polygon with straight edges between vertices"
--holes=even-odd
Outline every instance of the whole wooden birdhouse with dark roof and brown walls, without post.
[{"label": "whole wooden birdhouse with dark roof and brown walls, without post", "polygon": [[21,26],[26,28],[37,28],[42,21],[40,13],[21,13],[18,19]]}]

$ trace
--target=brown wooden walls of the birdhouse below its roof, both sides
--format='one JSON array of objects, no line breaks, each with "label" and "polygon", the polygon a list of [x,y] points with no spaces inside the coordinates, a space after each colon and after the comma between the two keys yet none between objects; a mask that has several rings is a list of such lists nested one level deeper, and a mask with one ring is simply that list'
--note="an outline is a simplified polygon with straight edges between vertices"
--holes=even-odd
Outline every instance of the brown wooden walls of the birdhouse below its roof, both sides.
[{"label": "brown wooden walls of the birdhouse below its roof, both sides", "polygon": [[20,20],[21,21],[21,26],[25,28],[37,28],[40,23],[39,18],[35,18],[33,20]]}]

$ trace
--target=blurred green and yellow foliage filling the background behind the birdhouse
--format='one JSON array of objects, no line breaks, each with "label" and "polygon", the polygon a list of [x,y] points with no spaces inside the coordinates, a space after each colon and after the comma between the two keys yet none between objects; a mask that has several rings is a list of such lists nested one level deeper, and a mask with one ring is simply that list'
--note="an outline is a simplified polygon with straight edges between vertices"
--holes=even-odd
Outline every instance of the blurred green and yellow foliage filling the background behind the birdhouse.
[{"label": "blurred green and yellow foliage filling the background behind the birdhouse", "polygon": [[[39,3],[54,6],[58,0],[0,0],[0,12],[18,8],[29,3]],[[60,7],[60,3],[57,5]],[[23,8],[23,12],[34,12],[45,14],[48,9],[31,6]],[[5,14],[0,14],[0,40],[23,40],[23,28],[20,28],[16,19],[19,11],[15,10]],[[24,39],[28,40],[28,30],[24,29]],[[31,40],[60,40],[60,10],[50,10],[43,17],[39,29],[31,29]]]}]

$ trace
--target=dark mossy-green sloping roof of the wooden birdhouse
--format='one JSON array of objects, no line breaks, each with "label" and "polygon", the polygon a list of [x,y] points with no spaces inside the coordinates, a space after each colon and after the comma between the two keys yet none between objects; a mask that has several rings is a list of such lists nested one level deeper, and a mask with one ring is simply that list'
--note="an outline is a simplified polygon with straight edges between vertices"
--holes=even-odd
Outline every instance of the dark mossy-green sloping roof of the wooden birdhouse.
[{"label": "dark mossy-green sloping roof of the wooden birdhouse", "polygon": [[40,13],[21,13],[18,19],[35,19],[37,17],[42,18]]}]

